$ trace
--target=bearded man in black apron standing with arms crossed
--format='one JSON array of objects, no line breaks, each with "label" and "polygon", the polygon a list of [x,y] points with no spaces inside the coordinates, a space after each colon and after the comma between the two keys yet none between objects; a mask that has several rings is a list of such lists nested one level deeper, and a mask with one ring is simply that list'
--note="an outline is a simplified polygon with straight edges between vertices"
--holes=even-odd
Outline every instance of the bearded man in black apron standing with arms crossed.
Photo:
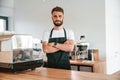
[{"label": "bearded man in black apron standing with arms crossed", "polygon": [[42,47],[47,55],[47,67],[70,70],[69,53],[74,48],[74,34],[63,27],[64,10],[55,7],[51,11],[53,29],[43,35]]}]

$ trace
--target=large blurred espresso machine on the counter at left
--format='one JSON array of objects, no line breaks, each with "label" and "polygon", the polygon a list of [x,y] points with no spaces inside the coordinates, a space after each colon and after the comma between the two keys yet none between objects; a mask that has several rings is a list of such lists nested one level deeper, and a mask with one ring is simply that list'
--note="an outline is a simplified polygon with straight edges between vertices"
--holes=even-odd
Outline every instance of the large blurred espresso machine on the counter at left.
[{"label": "large blurred espresso machine on the counter at left", "polygon": [[[37,56],[37,57],[35,57]],[[7,71],[35,69],[43,64],[33,54],[32,36],[27,34],[0,34],[0,68]]]}]

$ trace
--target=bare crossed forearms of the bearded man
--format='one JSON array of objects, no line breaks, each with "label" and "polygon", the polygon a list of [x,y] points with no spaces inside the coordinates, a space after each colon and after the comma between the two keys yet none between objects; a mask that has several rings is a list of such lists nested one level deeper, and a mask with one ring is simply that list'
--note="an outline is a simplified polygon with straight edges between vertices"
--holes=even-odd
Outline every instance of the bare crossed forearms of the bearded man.
[{"label": "bare crossed forearms of the bearded man", "polygon": [[59,50],[66,51],[66,52],[72,52],[74,49],[74,40],[67,40],[64,43],[57,43],[56,46],[54,46],[54,42],[48,43],[48,42],[42,42],[42,47],[44,53],[54,53]]}]

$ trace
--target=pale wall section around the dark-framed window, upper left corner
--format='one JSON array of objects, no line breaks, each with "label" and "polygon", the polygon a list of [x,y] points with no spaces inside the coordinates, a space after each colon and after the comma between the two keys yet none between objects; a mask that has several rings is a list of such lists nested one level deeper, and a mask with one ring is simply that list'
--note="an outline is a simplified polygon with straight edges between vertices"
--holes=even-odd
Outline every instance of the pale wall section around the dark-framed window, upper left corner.
[{"label": "pale wall section around the dark-framed window, upper left corner", "polygon": [[9,17],[9,30],[14,29],[14,0],[0,0],[0,16]]}]

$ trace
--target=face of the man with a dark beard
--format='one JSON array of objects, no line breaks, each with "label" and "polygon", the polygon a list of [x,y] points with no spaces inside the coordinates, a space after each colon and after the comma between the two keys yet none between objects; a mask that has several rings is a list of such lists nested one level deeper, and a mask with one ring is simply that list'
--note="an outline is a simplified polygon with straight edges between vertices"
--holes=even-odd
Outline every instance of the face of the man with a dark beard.
[{"label": "face of the man with a dark beard", "polygon": [[64,14],[62,12],[54,11],[52,20],[55,26],[59,27],[63,24]]}]

